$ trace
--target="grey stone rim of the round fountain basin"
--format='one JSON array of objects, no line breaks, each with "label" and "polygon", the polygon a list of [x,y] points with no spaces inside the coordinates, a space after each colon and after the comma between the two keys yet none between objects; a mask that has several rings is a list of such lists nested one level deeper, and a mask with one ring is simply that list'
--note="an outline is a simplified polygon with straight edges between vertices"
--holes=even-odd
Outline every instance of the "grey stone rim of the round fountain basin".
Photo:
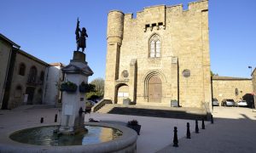
[{"label": "grey stone rim of the round fountain basin", "polygon": [[[5,138],[6,143],[0,144],[0,152],[136,152],[137,133],[124,126],[104,123],[104,122],[85,122],[84,125],[113,127],[123,132],[123,136],[108,142],[87,145],[69,145],[69,146],[44,146],[21,144],[11,139]],[[20,127],[21,129],[22,127]],[[27,127],[28,128],[28,127]],[[14,131],[15,132],[15,131]]]}]

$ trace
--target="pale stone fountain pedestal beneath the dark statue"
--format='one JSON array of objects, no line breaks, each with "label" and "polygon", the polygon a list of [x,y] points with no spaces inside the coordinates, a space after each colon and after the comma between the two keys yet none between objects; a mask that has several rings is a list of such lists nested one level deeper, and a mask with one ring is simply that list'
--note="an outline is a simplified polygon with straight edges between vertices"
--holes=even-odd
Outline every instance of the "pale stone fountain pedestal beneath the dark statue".
[{"label": "pale stone fountain pedestal beneath the dark statue", "polygon": [[73,59],[69,65],[62,68],[65,74],[64,82],[73,82],[78,88],[75,92],[64,91],[62,94],[61,127],[59,132],[63,134],[79,133],[84,128],[84,113],[79,115],[80,108],[85,110],[85,94],[79,92],[81,82],[88,82],[88,77],[93,74],[85,61],[85,54],[79,51],[73,52]]}]

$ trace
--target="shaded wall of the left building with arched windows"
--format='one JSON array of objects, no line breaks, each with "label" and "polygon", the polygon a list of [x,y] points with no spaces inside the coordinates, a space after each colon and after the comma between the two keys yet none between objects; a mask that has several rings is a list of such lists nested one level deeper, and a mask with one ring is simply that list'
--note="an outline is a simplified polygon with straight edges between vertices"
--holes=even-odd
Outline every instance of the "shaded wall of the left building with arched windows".
[{"label": "shaded wall of the left building with arched windows", "polygon": [[[25,75],[21,76],[19,74],[20,64],[23,63],[26,65]],[[44,63],[40,59],[33,57],[26,52],[19,50],[16,53],[15,67],[13,71],[13,78],[9,94],[9,109],[13,109],[19,105],[24,105],[24,98],[26,94],[26,88],[34,88],[34,94],[32,99],[32,105],[42,104],[43,95],[44,95],[44,82],[40,81],[40,74],[43,71],[45,75],[45,69],[48,64]],[[37,69],[37,77],[35,83],[28,83],[29,71],[35,66]],[[21,91],[17,91],[17,88],[20,86]]]}]

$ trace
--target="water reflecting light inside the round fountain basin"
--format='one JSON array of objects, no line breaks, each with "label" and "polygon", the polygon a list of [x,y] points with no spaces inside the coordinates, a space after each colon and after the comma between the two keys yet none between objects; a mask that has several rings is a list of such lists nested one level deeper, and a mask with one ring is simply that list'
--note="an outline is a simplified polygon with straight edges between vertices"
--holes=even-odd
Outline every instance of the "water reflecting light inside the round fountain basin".
[{"label": "water reflecting light inside the round fountain basin", "polygon": [[98,144],[117,139],[122,132],[112,127],[84,126],[88,131],[76,135],[55,133],[57,126],[32,127],[12,133],[9,138],[23,144],[66,146]]}]

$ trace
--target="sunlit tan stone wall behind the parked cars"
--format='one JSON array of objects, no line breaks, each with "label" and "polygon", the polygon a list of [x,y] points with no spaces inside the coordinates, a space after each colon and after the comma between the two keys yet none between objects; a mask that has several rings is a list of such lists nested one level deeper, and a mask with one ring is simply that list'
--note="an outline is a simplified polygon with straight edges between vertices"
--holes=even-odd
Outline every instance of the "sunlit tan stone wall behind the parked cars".
[{"label": "sunlit tan stone wall behind the parked cars", "polygon": [[245,94],[253,93],[251,79],[242,78],[223,78],[212,79],[213,98],[218,99],[221,103],[223,99],[234,99],[235,101],[242,99]]}]

